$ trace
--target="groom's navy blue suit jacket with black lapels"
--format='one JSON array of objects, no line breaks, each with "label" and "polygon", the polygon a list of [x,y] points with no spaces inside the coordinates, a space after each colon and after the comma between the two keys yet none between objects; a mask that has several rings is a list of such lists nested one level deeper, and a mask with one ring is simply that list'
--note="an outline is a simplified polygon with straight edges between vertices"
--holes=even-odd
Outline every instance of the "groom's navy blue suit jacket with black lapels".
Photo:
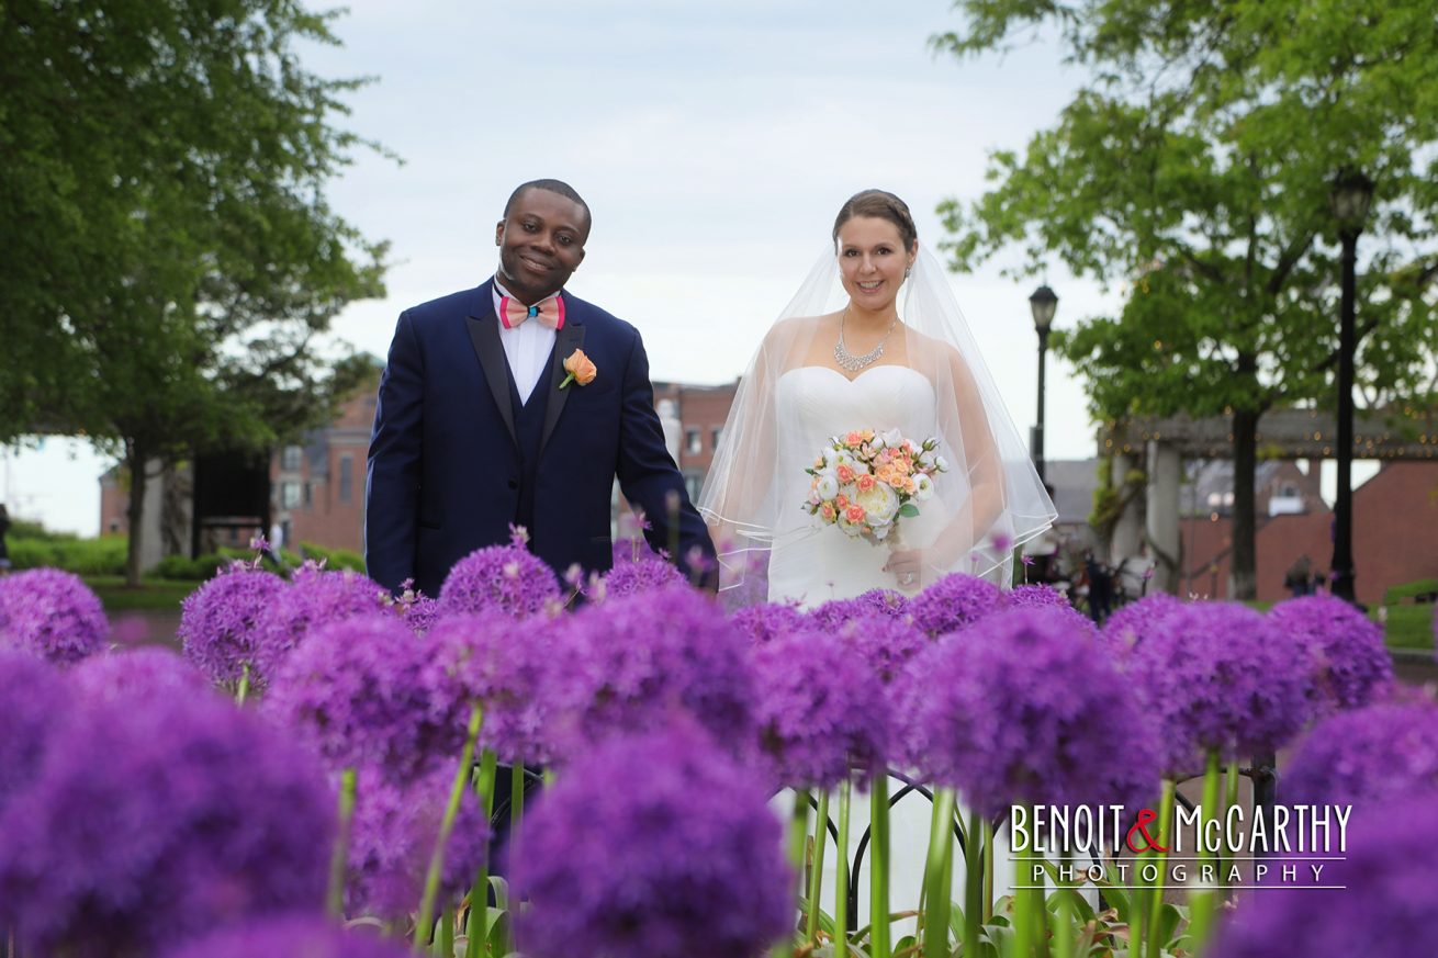
[{"label": "groom's navy blue suit jacket with black lapels", "polygon": [[[519,452],[493,280],[404,311],[380,378],[365,485],[365,565],[390,590],[414,578],[437,596],[450,567],[509,541]],[[644,509],[654,548],[713,557],[703,519],[664,447],[638,331],[569,293],[557,334],[529,548],[558,572],[611,564],[610,495]],[[559,388],[562,360],[582,348],[598,375]],[[679,496],[670,531],[670,493]]]}]

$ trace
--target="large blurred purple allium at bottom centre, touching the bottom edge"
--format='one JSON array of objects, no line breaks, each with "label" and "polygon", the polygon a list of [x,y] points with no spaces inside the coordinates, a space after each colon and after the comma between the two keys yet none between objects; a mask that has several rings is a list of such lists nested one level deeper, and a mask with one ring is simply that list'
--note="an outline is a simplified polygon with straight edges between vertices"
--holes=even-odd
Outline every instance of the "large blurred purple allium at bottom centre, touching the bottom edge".
[{"label": "large blurred purple allium at bottom centre, touching the bottom edge", "polygon": [[584,755],[521,831],[533,958],[756,955],[794,918],[768,795],[683,721]]}]

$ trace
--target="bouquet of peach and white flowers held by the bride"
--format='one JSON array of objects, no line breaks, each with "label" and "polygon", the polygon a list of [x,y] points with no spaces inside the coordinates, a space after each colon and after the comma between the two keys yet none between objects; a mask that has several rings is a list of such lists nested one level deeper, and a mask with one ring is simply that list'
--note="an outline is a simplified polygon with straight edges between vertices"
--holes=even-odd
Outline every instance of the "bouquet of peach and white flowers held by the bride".
[{"label": "bouquet of peach and white flowers held by the bride", "polygon": [[938,447],[938,439],[915,444],[897,429],[834,436],[804,470],[812,476],[804,509],[820,525],[880,542],[933,495],[933,476],[949,467]]}]

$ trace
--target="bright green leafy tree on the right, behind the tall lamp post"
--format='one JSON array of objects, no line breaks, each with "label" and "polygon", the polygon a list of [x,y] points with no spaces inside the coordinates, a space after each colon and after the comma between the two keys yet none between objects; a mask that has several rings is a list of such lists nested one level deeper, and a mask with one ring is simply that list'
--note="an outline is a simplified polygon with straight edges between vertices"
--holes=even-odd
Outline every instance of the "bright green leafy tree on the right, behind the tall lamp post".
[{"label": "bright green leafy tree on the right, behind the tall lamp post", "polygon": [[1422,0],[958,0],[959,58],[1057,27],[1091,79],[997,186],[940,207],[956,269],[1011,245],[1122,282],[1117,316],[1055,347],[1102,419],[1228,416],[1234,593],[1251,598],[1255,427],[1330,403],[1337,350],[1334,177],[1378,184],[1363,239],[1359,383],[1373,404],[1432,394],[1438,355],[1438,20]]}]

